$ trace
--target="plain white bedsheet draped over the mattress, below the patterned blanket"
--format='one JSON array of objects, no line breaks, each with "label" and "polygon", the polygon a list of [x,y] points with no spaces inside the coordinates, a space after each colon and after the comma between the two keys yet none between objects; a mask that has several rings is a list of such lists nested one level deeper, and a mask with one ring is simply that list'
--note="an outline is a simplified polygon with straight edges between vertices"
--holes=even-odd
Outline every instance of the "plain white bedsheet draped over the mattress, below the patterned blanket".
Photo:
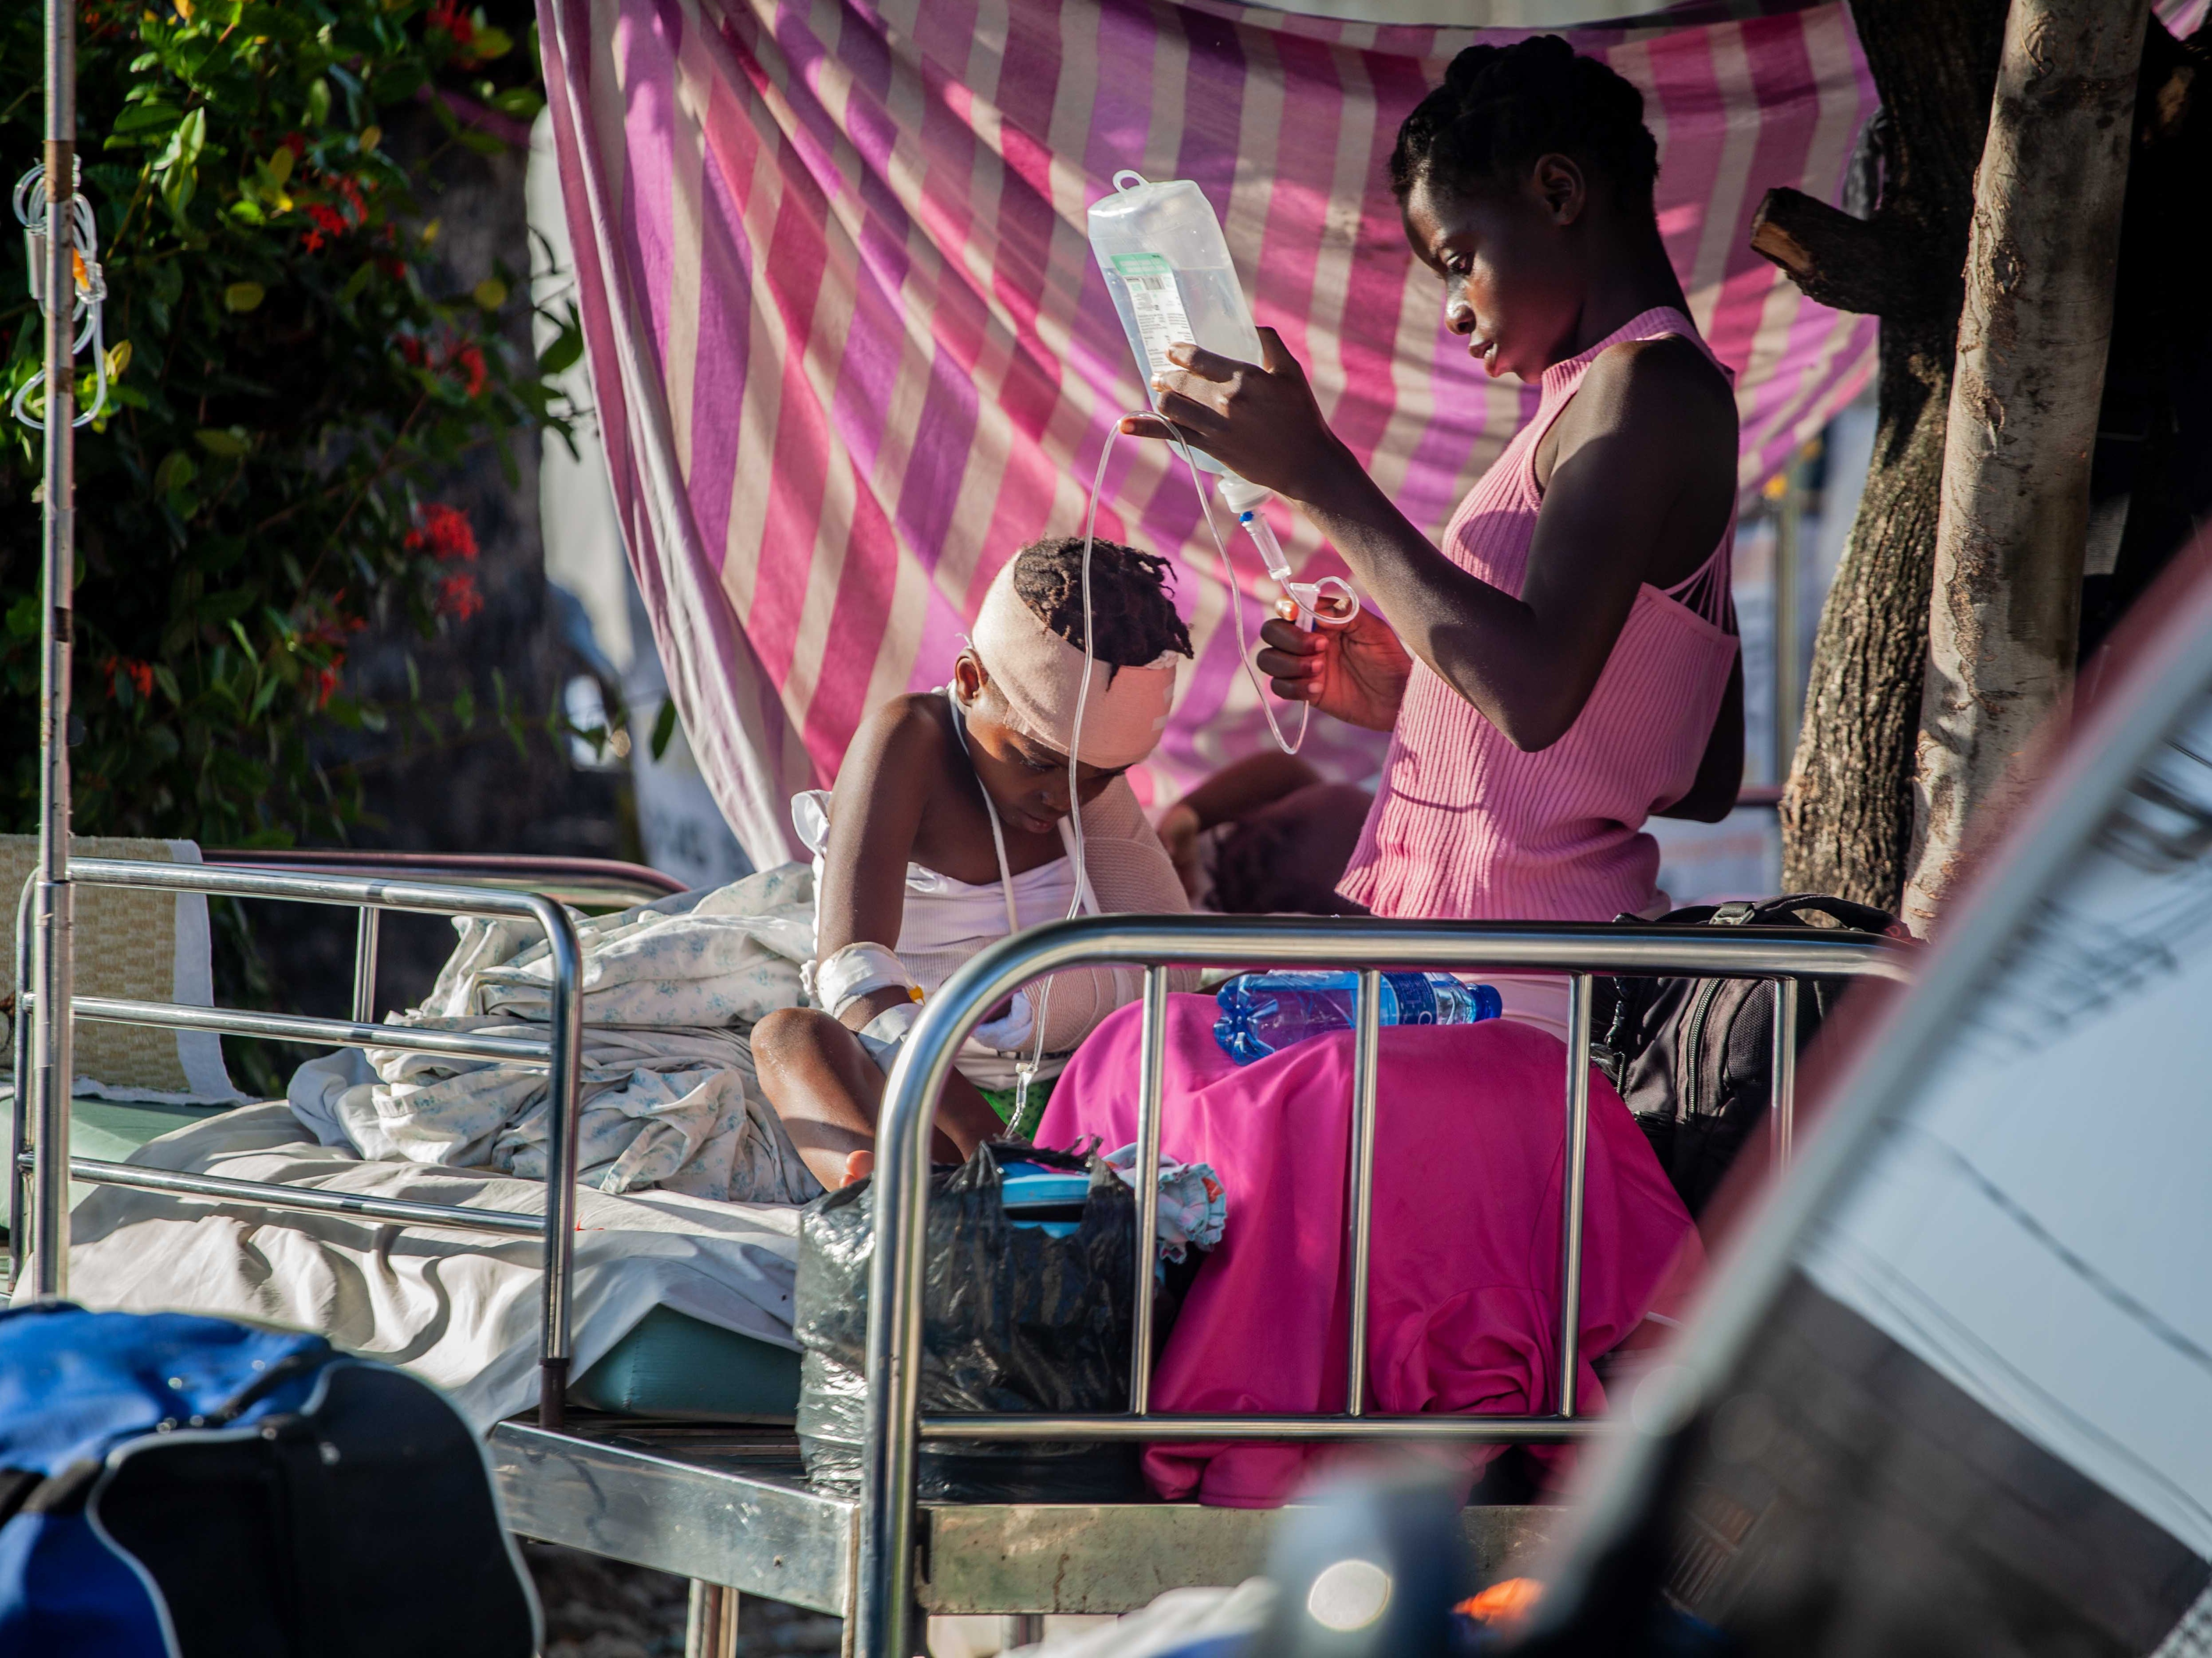
[{"label": "plain white bedsheet draped over the mattress, below the patterned blanket", "polygon": [[[281,1103],[246,1105],[139,1147],[133,1163],[469,1209],[544,1211],[544,1185],[482,1169],[365,1163],[303,1138]],[[538,1402],[540,1245],[480,1231],[279,1214],[100,1187],[73,1216],[71,1298],[290,1324],[414,1371],[489,1430]],[[653,1307],[779,1346],[792,1340],[799,1209],[675,1192],[577,1189],[582,1375]]]}]

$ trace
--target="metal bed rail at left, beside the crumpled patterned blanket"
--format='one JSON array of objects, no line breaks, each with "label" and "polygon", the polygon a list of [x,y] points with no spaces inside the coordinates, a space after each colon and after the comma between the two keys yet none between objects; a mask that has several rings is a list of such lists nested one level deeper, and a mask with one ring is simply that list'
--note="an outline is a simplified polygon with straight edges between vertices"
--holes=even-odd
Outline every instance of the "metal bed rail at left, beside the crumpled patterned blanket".
[{"label": "metal bed rail at left, beside the crumpled patterned blanket", "polygon": [[[188,1008],[173,1001],[135,1001],[124,997],[71,997],[73,1019],[106,1024],[157,1026],[164,1030],[212,1030],[239,1037],[274,1037],[325,1048],[396,1048],[400,1052],[453,1054],[465,1059],[498,1059],[504,1063],[544,1066],[551,1077],[553,1112],[546,1136],[546,1203],[542,1214],[515,1209],[465,1209],[403,1198],[365,1198],[345,1192],[283,1187],[263,1180],[230,1180],[212,1174],[175,1174],[126,1163],[69,1156],[66,1103],[60,1123],[40,1123],[29,1134],[33,1110],[29,1088],[29,1026],[24,1015],[35,1008],[29,993],[31,893],[24,882],[18,909],[18,997],[15,997],[15,1101],[9,1127],[9,1251],[11,1282],[22,1280],[24,1260],[24,1176],[29,1174],[29,1207],[35,1229],[40,1298],[69,1293],[69,1180],[128,1185],[146,1192],[217,1198],[223,1203],[301,1214],[347,1214],[416,1227],[449,1227],[504,1236],[544,1238],[544,1333],[540,1337],[538,1419],[546,1428],[562,1426],[568,1393],[571,1300],[575,1256],[575,1167],[577,1167],[577,1079],[582,1072],[582,951],[575,924],[557,902],[540,893],[515,893],[493,886],[462,886],[416,880],[383,880],[376,875],[336,875],[307,871],[270,871],[208,864],[153,864],[117,858],[71,858],[73,886],[131,886],[166,893],[206,893],[210,898],[265,898],[294,904],[341,904],[358,911],[354,951],[354,1017],[307,1019],[279,1012],[246,1012],[234,1008]],[[553,959],[553,1006],[546,1037],[498,1037],[482,1032],[414,1030],[380,1026],[376,1017],[376,915],[380,911],[416,911],[429,915],[500,915],[533,920],[546,937]]]}]

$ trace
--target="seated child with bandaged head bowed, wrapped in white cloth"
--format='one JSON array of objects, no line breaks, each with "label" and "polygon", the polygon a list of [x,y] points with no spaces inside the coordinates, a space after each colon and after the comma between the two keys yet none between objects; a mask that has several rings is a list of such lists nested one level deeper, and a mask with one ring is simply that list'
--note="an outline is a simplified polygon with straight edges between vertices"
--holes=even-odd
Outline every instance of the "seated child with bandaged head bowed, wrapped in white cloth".
[{"label": "seated child with bandaged head bowed, wrapped in white cloth", "polygon": [[[1079,537],[1015,553],[991,581],[951,685],[878,707],[854,734],[836,789],[792,802],[816,851],[810,984],[821,1006],[770,1012],[752,1057],[761,1092],[827,1187],[872,1163],[883,1081],[920,995],[987,944],[1073,906],[1066,747],[1084,681],[1082,562]],[[1077,745],[1088,913],[1190,909],[1124,776],[1159,743],[1175,659],[1190,657],[1166,577],[1161,557],[1093,542],[1097,639]],[[1194,988],[1194,975],[1172,977]],[[931,1156],[964,1158],[1004,1134],[1009,1090],[1031,1063],[1033,1121],[1035,1083],[1057,1077],[1093,1026],[1141,988],[1137,968],[1079,968],[995,1008],[945,1088]]]}]

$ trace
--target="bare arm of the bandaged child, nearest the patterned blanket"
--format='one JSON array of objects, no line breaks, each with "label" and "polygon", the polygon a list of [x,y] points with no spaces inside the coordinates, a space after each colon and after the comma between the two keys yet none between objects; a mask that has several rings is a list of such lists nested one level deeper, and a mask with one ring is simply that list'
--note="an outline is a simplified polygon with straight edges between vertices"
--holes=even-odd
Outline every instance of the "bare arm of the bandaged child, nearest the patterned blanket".
[{"label": "bare arm of the bandaged child, nearest the patterned blanket", "polygon": [[[922,710],[894,701],[854,732],[830,794],[830,842],[814,902],[814,959],[847,944],[898,944],[907,915],[907,860],[922,822],[931,780],[945,769],[945,732]],[[860,997],[843,1021],[865,1026],[905,999],[885,988]]]}]

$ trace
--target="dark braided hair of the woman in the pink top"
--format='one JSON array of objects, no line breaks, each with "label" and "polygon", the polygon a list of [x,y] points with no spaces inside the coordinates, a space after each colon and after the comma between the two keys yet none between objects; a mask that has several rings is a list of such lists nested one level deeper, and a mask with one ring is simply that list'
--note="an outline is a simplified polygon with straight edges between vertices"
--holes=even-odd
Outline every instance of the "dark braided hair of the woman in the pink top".
[{"label": "dark braided hair of the woman in the pink top", "polygon": [[1559,35],[1453,57],[1444,84],[1398,128],[1389,181],[1400,201],[1416,183],[1467,192],[1526,175],[1542,155],[1604,172],[1628,208],[1652,206],[1659,144],[1644,126],[1644,93]]}]

